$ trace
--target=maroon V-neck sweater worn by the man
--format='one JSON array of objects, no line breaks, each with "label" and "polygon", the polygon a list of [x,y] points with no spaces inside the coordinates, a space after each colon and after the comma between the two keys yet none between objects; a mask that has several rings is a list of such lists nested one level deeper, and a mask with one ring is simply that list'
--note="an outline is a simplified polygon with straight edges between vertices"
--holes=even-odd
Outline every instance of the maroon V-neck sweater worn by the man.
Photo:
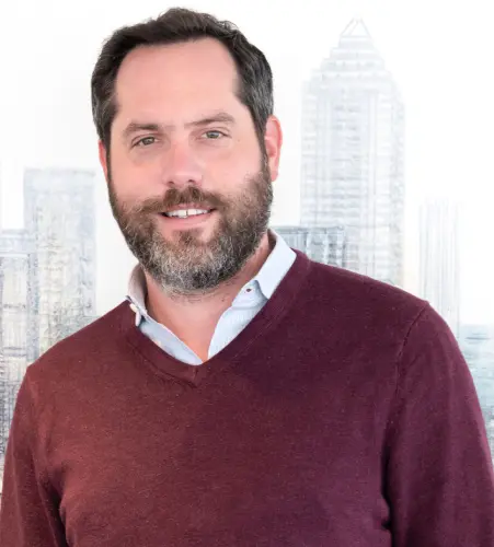
[{"label": "maroon V-neck sweater worn by the man", "polygon": [[493,547],[471,375],[423,301],[298,258],[200,366],[128,304],[28,368],[1,547]]}]

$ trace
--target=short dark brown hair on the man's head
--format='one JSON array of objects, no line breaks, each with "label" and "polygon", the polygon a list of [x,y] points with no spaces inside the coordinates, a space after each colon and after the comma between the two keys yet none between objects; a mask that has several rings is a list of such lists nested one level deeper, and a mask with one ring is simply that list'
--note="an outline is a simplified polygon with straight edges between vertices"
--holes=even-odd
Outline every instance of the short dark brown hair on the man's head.
[{"label": "short dark brown hair on the man's head", "polygon": [[173,8],[157,19],[124,26],[104,43],[91,78],[91,103],[97,136],[110,152],[111,129],[117,114],[115,80],[124,58],[140,46],[216,38],[230,51],[239,75],[237,96],[251,112],[264,146],[267,118],[273,114],[273,74],[264,54],[235,25],[208,13]]}]

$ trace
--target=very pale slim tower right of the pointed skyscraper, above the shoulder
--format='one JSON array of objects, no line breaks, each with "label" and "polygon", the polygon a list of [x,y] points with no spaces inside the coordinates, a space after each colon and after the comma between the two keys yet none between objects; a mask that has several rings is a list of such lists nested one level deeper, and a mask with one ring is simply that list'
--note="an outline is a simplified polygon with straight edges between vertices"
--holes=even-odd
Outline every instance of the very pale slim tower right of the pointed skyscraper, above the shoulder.
[{"label": "very pale slim tower right of the pointed skyscraper, above the shoulder", "polygon": [[458,207],[432,200],[421,208],[420,296],[444,317],[455,336],[460,322]]}]

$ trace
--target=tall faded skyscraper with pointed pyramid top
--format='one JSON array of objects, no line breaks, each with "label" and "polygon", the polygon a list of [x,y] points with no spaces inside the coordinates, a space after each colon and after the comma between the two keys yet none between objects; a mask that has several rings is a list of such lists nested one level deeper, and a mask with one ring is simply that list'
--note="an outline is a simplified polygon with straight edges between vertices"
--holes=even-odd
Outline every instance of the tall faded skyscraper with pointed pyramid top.
[{"label": "tall faded skyscraper with pointed pyramid top", "polygon": [[302,96],[300,224],[343,226],[352,269],[402,286],[403,103],[363,21]]}]

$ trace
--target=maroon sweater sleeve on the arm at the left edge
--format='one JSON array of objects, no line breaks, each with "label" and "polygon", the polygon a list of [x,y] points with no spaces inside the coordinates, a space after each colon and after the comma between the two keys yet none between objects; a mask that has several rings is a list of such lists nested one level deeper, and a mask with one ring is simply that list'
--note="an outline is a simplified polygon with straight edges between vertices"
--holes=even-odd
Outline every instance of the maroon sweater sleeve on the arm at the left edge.
[{"label": "maroon sweater sleeve on the arm at the left edge", "polygon": [[37,427],[28,386],[28,371],[19,391],[7,445],[0,507],[2,547],[68,547],[36,445]]}]

